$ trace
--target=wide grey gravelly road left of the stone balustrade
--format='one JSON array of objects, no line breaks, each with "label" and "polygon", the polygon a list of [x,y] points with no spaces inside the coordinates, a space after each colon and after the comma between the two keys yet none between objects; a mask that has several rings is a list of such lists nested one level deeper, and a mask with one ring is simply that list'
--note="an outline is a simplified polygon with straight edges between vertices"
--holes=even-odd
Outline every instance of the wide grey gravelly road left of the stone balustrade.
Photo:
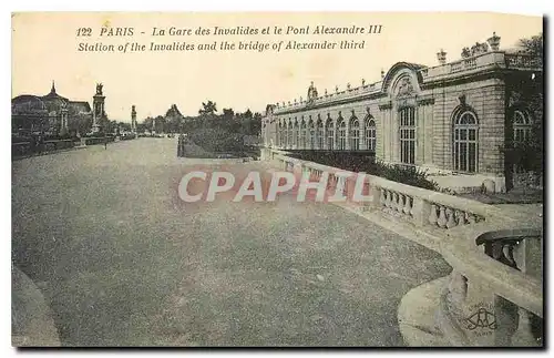
[{"label": "wide grey gravelly road left of the stone balustrade", "polygon": [[13,262],[63,345],[402,346],[401,297],[449,273],[330,204],[183,205],[199,161],[175,153],[140,139],[13,163]]}]

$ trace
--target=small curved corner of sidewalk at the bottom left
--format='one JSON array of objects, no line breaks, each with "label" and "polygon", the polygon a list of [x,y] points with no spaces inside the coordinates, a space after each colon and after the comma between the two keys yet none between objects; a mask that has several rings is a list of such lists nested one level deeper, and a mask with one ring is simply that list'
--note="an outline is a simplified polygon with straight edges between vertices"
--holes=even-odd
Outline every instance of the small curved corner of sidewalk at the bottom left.
[{"label": "small curved corner of sidewalk at the bottom left", "polygon": [[11,345],[13,347],[60,347],[52,311],[34,283],[12,266]]}]

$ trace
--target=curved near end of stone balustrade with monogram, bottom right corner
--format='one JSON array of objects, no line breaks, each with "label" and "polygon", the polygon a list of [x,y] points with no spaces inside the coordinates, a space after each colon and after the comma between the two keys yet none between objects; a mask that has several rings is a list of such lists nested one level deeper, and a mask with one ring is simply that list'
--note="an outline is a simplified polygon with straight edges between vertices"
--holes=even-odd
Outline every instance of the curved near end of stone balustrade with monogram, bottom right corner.
[{"label": "curved near end of stone balustrade with monogram, bottom right corner", "polygon": [[438,324],[452,345],[542,346],[543,233],[522,226],[482,223],[452,231],[441,243],[453,270]]}]

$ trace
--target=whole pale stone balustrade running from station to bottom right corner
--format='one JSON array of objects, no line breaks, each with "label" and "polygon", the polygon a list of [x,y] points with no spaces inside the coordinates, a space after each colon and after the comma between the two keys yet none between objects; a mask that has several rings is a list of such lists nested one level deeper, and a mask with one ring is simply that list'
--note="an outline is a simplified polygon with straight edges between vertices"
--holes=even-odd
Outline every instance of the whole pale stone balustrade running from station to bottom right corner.
[{"label": "whole pale stone balustrade running from station to bottom right corner", "polygon": [[[264,151],[263,160],[295,174],[309,173],[310,181],[328,173],[331,192],[346,181],[345,194],[351,194],[353,181],[343,175],[356,178],[357,173]],[[363,195],[370,201],[345,204],[389,229],[406,228],[402,235],[439,252],[452,266],[438,307],[441,330],[452,345],[541,344],[541,223],[512,209],[373,175],[365,176]]]}]

